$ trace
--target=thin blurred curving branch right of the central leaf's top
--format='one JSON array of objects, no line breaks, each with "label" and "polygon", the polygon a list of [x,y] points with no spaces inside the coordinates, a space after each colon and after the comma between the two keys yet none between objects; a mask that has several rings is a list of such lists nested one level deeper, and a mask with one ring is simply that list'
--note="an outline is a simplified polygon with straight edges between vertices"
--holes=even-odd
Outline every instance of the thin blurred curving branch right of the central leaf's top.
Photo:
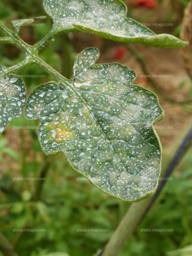
[{"label": "thin blurred curving branch right of the central leaf's top", "polygon": [[178,100],[175,100],[173,98],[169,98],[166,94],[164,94],[159,89],[158,85],[156,85],[155,81],[150,77],[149,73],[147,72],[146,67],[145,67],[145,63],[144,63],[144,60],[143,60],[143,56],[141,54],[139,54],[133,47],[131,47],[128,44],[126,44],[126,48],[132,53],[134,58],[139,62],[140,66],[141,66],[141,68],[143,70],[143,73],[146,75],[146,77],[148,79],[148,82],[151,85],[151,87],[154,88],[156,90],[156,92],[162,98],[164,98],[165,100],[167,100],[168,102],[173,103],[173,104],[182,104],[183,105],[183,104],[187,104],[187,103],[191,103],[192,102],[192,99],[178,101]]}]

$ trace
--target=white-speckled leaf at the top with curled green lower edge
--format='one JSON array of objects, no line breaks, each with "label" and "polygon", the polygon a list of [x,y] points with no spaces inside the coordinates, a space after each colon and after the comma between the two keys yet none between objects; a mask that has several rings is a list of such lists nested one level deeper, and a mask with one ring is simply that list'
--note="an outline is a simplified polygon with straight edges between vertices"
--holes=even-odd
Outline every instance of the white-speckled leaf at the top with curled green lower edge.
[{"label": "white-speckled leaf at the top with curled green lower edge", "polygon": [[186,42],[167,34],[156,35],[149,28],[127,18],[120,0],[43,0],[45,11],[54,21],[53,32],[84,31],[119,42],[179,48]]}]

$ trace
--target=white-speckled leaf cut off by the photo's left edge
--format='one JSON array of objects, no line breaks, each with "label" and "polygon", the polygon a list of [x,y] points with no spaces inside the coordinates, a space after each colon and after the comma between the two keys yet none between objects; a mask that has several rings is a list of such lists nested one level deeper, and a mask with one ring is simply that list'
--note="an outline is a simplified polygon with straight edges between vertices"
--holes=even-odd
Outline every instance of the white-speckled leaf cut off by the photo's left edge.
[{"label": "white-speckled leaf cut off by the photo's left edge", "polygon": [[[6,68],[0,66],[0,74]],[[12,117],[22,114],[26,101],[26,89],[22,78],[9,74],[0,77],[0,133],[2,133]]]}]

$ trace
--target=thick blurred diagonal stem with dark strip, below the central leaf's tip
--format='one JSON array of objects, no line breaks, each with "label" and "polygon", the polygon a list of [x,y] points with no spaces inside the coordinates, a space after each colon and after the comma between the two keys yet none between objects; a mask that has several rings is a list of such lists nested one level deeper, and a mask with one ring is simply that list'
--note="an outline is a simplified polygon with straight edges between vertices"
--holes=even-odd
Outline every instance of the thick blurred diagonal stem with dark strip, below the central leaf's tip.
[{"label": "thick blurred diagonal stem with dark strip, below the central leaf's tip", "polygon": [[[185,155],[188,148],[192,144],[192,127],[189,129],[188,133],[186,134],[185,138],[181,142],[180,146],[178,147],[174,157],[172,158],[168,168],[166,171],[163,171],[164,178],[168,178],[172,171],[176,168],[178,163],[180,162],[181,158]],[[117,256],[120,250],[122,249],[125,242],[128,241],[132,233],[134,232],[137,225],[141,222],[144,218],[146,212],[150,209],[152,204],[154,203],[156,197],[161,192],[162,188],[166,184],[166,179],[163,180],[159,187],[156,190],[154,196],[149,197],[145,200],[142,200],[138,203],[133,203],[127,213],[125,214],[124,218],[121,220],[118,228],[113,233],[111,239],[109,240],[106,247],[100,253],[99,256]]]}]

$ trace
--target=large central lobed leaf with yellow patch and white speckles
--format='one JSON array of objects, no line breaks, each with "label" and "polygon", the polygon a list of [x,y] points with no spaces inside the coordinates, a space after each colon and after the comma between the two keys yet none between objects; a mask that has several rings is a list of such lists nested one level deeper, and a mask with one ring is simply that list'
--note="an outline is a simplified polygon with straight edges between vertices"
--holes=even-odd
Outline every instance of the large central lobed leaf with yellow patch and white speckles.
[{"label": "large central lobed leaf with yellow patch and white speckles", "polygon": [[62,151],[96,187],[137,201],[157,186],[161,146],[153,123],[163,110],[154,93],[132,85],[134,71],[95,64],[98,57],[98,49],[85,49],[71,80],[36,87],[25,116],[41,120],[39,141],[47,155]]}]

